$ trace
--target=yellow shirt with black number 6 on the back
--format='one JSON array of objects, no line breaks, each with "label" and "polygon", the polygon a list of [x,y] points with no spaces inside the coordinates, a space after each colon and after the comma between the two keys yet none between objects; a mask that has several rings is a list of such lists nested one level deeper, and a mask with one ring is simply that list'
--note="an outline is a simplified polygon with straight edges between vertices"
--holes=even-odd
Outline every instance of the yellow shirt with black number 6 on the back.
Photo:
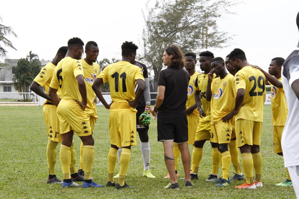
[{"label": "yellow shirt with black number 6 on the back", "polygon": [[59,106],[81,108],[81,106],[74,101],[74,99],[78,101],[82,100],[76,79],[78,75],[84,76],[82,64],[79,60],[66,57],[58,62],[50,87],[61,89],[62,98],[59,102]]}]

